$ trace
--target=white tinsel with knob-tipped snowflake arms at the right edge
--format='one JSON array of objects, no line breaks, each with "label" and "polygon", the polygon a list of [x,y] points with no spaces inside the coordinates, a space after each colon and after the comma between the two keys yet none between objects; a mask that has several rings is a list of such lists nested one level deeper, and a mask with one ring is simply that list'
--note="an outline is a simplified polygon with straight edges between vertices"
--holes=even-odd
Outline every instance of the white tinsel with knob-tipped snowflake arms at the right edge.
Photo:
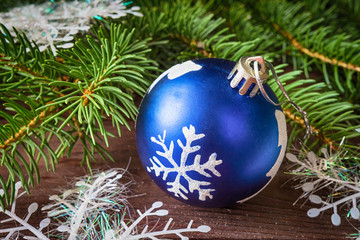
[{"label": "white tinsel with knob-tipped snowflake arms at the right edge", "polygon": [[[347,166],[346,152],[341,150],[334,154],[329,154],[326,149],[321,149],[321,152],[322,156],[317,156],[314,152],[306,154],[300,152],[299,156],[286,154],[286,158],[296,164],[291,173],[304,180],[299,185],[303,191],[299,199],[305,198],[311,203],[320,205],[309,209],[307,215],[315,218],[324,211],[332,210],[331,222],[339,226],[341,216],[338,209],[344,206],[348,209],[346,217],[360,220],[358,166],[356,164]],[[330,193],[321,194],[325,189],[330,189]],[[356,239],[360,240],[360,237]]]}]

